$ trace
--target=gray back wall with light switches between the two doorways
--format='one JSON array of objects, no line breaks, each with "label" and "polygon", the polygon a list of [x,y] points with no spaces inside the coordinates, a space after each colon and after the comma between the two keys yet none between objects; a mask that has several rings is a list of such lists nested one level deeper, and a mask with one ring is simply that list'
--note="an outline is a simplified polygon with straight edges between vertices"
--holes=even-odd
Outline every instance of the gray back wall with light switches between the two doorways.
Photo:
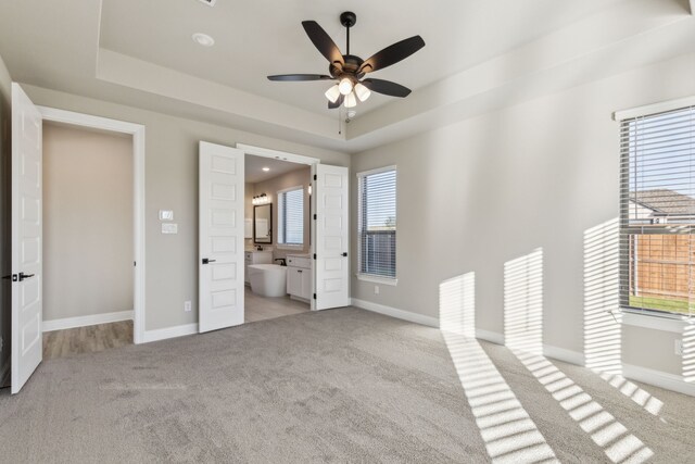
[{"label": "gray back wall with light switches between the two doorways", "polygon": [[[198,322],[198,142],[247,143],[350,165],[344,153],[290,143],[228,127],[25,86],[39,105],[146,126],[146,329]],[[174,210],[178,235],[161,234],[159,210]],[[193,311],[184,312],[184,301]]]}]

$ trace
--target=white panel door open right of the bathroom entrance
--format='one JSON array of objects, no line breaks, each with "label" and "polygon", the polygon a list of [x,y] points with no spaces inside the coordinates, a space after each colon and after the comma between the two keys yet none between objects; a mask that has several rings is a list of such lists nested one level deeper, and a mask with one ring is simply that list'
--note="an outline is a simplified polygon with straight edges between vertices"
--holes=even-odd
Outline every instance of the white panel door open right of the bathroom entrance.
[{"label": "white panel door open right of the bathroom entrance", "polygon": [[350,305],[348,167],[314,165],[316,310]]}]

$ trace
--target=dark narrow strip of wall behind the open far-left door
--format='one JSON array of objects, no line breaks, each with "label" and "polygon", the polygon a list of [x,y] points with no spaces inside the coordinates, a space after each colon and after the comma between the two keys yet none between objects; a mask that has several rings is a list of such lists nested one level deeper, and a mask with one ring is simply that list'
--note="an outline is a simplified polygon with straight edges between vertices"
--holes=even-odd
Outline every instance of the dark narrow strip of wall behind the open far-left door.
[{"label": "dark narrow strip of wall behind the open far-left door", "polygon": [[[10,243],[10,191],[11,191],[11,97],[10,73],[0,57],[0,275],[12,273]],[[11,281],[0,279],[0,386],[10,385],[10,346],[11,346]],[[4,377],[4,378],[3,378]]]}]

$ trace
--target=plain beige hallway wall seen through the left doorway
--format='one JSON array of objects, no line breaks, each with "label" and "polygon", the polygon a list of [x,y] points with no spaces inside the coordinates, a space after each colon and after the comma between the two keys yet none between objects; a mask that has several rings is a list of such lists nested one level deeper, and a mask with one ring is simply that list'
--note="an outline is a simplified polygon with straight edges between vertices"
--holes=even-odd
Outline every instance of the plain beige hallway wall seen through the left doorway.
[{"label": "plain beige hallway wall seen through the left doorway", "polygon": [[132,137],[43,124],[43,321],[132,310]]}]

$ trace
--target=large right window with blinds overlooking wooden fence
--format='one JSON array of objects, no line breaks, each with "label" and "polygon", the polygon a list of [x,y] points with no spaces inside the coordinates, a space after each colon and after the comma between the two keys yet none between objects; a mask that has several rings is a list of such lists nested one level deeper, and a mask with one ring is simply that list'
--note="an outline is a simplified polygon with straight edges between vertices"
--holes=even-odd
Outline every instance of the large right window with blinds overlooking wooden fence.
[{"label": "large right window with blinds overlooking wooden fence", "polygon": [[695,315],[695,106],[621,122],[620,305]]}]

